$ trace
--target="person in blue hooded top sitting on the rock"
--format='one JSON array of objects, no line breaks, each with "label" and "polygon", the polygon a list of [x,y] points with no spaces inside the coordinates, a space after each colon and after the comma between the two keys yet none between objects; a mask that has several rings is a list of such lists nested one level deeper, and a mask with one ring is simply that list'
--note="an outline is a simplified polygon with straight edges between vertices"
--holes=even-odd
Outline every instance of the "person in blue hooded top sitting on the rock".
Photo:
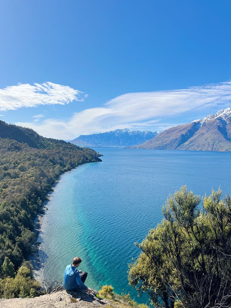
[{"label": "person in blue hooded top sitting on the rock", "polygon": [[86,290],[86,292],[89,294],[90,289],[84,284],[88,273],[82,271],[78,271],[77,267],[82,262],[82,259],[80,257],[75,257],[73,259],[72,264],[67,265],[64,277],[63,277],[63,288],[67,291],[73,291],[76,290],[78,287]]}]

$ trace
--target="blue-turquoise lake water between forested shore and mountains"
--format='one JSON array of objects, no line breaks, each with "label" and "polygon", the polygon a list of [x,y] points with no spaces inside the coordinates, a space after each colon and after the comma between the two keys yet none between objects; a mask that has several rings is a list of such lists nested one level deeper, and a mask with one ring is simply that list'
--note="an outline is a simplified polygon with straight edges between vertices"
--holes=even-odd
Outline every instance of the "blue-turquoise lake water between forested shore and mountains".
[{"label": "blue-turquoise lake water between forested shore and mountains", "polygon": [[103,161],[63,174],[47,204],[43,276],[60,282],[66,265],[80,256],[88,286],[112,284],[116,293],[135,296],[127,282],[127,263],[140,253],[133,243],[162,220],[166,198],[181,185],[200,195],[219,186],[231,192],[231,153],[96,150]]}]

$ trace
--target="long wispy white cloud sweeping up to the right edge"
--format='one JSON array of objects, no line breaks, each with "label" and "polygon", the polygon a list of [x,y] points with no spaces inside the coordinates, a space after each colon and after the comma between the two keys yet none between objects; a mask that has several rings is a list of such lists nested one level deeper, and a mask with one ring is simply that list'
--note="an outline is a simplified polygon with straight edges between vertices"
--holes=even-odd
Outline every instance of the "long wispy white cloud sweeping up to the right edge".
[{"label": "long wispy white cloud sweeping up to the right edge", "polygon": [[187,89],[127,93],[101,107],[75,113],[66,120],[46,119],[40,123],[16,124],[31,127],[46,137],[62,139],[124,127],[163,130],[172,126],[163,123],[166,117],[211,106],[223,107],[230,100],[231,82],[227,81]]}]

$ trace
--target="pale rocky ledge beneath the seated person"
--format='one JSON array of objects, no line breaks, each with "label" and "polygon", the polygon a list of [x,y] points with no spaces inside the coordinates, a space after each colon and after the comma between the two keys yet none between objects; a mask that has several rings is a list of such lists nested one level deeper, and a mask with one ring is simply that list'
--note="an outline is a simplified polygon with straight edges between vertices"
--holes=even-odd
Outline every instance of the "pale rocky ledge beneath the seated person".
[{"label": "pale rocky ledge beneath the seated person", "polygon": [[[62,285],[54,289],[51,294],[41,295],[35,298],[12,298],[0,300],[1,308],[68,308],[68,307],[100,307],[101,305],[114,305],[110,300],[99,299],[96,291],[91,293],[79,289],[78,291],[66,291]],[[118,307],[118,306],[117,306]]]}]

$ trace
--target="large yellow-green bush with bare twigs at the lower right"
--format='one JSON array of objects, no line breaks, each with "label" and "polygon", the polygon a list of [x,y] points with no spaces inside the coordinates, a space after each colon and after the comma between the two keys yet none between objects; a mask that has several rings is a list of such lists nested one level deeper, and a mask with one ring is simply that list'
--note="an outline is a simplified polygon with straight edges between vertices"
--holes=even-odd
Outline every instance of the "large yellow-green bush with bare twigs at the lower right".
[{"label": "large yellow-green bush with bare twigs at the lower right", "polygon": [[231,196],[218,189],[201,204],[182,186],[163,215],[136,243],[141,253],[129,264],[129,284],[157,307],[231,307]]}]

